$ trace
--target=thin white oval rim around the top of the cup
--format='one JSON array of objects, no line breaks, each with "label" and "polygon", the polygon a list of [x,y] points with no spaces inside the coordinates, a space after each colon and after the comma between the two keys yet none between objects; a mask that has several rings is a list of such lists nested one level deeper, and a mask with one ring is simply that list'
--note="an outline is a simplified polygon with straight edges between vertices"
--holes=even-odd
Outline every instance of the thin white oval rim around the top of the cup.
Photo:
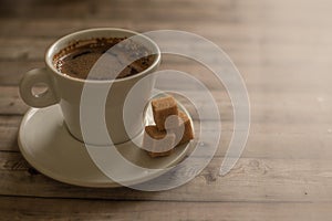
[{"label": "thin white oval rim around the top of the cup", "polygon": [[[137,73],[137,74],[134,74],[132,76],[126,76],[126,77],[123,77],[123,78],[115,78],[115,80],[83,80],[83,78],[77,78],[77,77],[73,77],[73,76],[63,74],[63,73],[61,73],[60,71],[58,71],[55,69],[55,66],[53,65],[53,55],[54,55],[53,52],[54,52],[56,45],[60,42],[62,42],[62,41],[64,41],[69,38],[73,38],[75,35],[80,35],[80,34],[84,34],[84,33],[89,33],[89,32],[97,32],[97,31],[115,31],[115,32],[123,32],[123,33],[129,33],[129,34],[133,34],[133,35],[138,35],[139,38],[145,39],[147,42],[149,42],[153,45],[154,50],[156,50],[156,54],[155,54],[156,59],[153,62],[153,64],[149,65],[146,70],[144,70],[144,71]],[[81,30],[81,31],[76,31],[76,32],[66,34],[66,35],[58,39],[46,50],[44,60],[45,60],[45,63],[46,63],[48,67],[52,72],[56,73],[60,77],[63,77],[63,78],[70,80],[70,81],[74,81],[74,82],[79,82],[79,83],[101,84],[101,83],[124,82],[124,81],[128,81],[128,80],[139,77],[139,76],[151,72],[152,70],[154,70],[159,64],[160,57],[162,57],[162,53],[160,53],[160,49],[158,48],[158,45],[152,39],[149,39],[148,36],[144,35],[142,33],[138,33],[138,32],[132,31],[132,30],[126,30],[126,29],[117,29],[117,28],[92,28],[92,29],[84,29],[84,30]]]}]

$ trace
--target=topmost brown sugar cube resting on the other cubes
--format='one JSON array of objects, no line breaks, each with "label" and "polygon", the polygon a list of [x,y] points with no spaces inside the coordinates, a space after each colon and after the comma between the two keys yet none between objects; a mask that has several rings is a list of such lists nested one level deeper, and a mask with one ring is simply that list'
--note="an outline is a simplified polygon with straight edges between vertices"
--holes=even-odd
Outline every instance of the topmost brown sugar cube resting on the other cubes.
[{"label": "topmost brown sugar cube resting on the other cubes", "polygon": [[159,130],[165,129],[165,122],[168,116],[178,114],[176,101],[172,96],[153,99],[152,109]]}]

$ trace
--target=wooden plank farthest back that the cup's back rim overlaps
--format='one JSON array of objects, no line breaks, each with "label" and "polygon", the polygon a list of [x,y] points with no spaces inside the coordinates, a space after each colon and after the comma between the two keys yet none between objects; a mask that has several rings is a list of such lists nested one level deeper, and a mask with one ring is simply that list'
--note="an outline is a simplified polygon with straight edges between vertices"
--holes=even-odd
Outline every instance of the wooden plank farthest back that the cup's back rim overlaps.
[{"label": "wooden plank farthest back that the cup's back rim overlaps", "polygon": [[[164,10],[164,9],[163,9]],[[231,20],[224,20],[222,22],[210,20],[208,23],[204,20],[197,20],[194,22],[178,21],[169,22],[168,20],[149,20],[148,22],[135,22],[131,18],[114,18],[110,19],[96,19],[90,18],[83,20],[80,18],[56,18],[56,19],[33,19],[25,18],[2,18],[0,20],[1,27],[6,29],[0,30],[1,36],[14,36],[18,38],[18,31],[20,31],[19,38],[54,38],[75,32],[81,29],[98,28],[98,27],[122,27],[125,29],[136,30],[139,32],[152,30],[181,30],[189,31],[197,34],[201,34],[205,38],[212,40],[222,40],[224,42],[239,42],[239,43],[259,43],[261,45],[270,45],[280,43],[293,43],[294,45],[301,44],[302,41],[313,42],[314,40],[303,35],[301,41],[293,41],[298,38],[294,33],[305,33],[308,27],[304,23],[298,23],[295,27],[292,23],[276,22],[273,29],[264,30],[270,23],[260,22],[232,22]],[[310,27],[314,32],[324,33],[330,35],[329,30],[322,29],[325,24],[318,23]],[[263,31],[263,33],[262,33]],[[268,40],[262,38],[268,36]],[[258,42],[259,40],[259,42]],[[323,40],[323,41],[322,41]],[[318,43],[330,42],[329,38],[322,38]]]}]

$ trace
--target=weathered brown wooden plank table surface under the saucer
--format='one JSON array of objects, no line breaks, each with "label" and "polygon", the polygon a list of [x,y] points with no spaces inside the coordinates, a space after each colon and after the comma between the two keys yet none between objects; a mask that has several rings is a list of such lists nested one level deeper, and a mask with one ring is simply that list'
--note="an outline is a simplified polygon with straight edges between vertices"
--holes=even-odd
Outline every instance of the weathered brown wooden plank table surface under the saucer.
[{"label": "weathered brown wooden plank table surface under the saucer", "polygon": [[[0,220],[332,220],[331,11],[329,0],[0,1]],[[219,149],[195,179],[159,192],[95,189],[29,166],[17,143],[29,108],[19,81],[43,66],[50,43],[93,27],[189,31],[227,52],[251,104],[249,139],[228,175],[218,175],[232,134],[227,93],[206,69],[167,55],[162,69],[200,77],[221,113]]]}]

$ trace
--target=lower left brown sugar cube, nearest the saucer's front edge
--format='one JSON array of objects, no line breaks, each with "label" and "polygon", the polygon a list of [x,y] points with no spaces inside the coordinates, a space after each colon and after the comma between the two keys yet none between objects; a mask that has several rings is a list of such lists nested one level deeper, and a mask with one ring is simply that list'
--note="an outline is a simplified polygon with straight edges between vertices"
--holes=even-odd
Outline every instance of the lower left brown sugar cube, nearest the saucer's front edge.
[{"label": "lower left brown sugar cube, nearest the saucer's front edge", "polygon": [[154,125],[145,127],[143,147],[151,157],[168,156],[175,146],[175,135],[158,130]]}]

